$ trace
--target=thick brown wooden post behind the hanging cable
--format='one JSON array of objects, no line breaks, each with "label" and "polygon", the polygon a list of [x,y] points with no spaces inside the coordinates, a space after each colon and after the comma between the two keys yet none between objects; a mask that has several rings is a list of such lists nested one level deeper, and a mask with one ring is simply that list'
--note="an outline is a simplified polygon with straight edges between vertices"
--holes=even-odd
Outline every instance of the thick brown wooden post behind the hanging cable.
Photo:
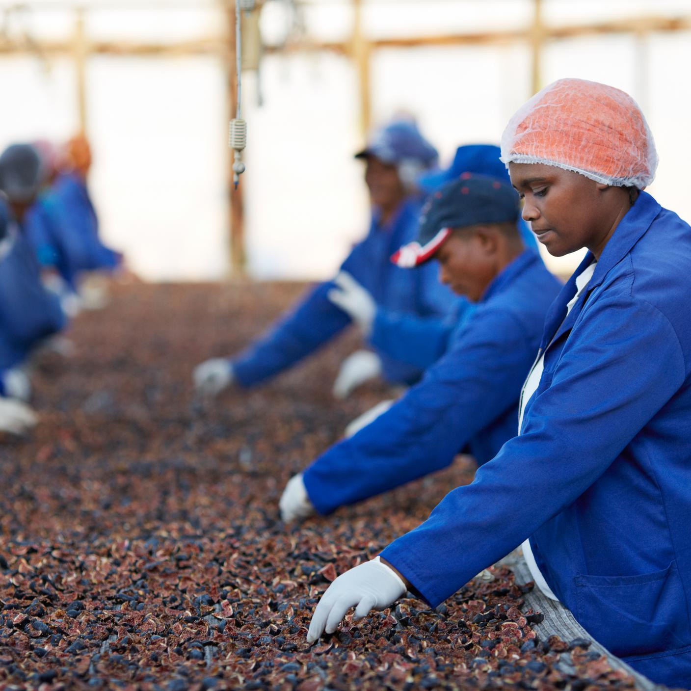
[{"label": "thick brown wooden post behind the hanging cable", "polygon": [[[237,102],[237,75],[235,65],[235,3],[234,0],[225,1],[226,15],[226,51],[225,51],[225,84],[226,84],[226,122],[235,117]],[[229,276],[241,278],[245,276],[245,203],[243,198],[243,178],[240,176],[238,189],[233,184],[233,151],[228,148],[227,135],[226,164],[226,196],[228,203],[229,224]]]}]

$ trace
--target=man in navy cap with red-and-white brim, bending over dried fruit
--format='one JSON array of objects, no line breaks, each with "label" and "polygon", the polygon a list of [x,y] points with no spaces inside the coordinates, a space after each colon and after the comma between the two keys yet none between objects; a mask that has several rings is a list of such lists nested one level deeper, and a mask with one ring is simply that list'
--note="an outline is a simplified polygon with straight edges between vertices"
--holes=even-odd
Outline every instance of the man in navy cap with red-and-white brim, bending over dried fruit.
[{"label": "man in navy cap with red-and-white brim, bending over dried fruit", "polygon": [[457,453],[478,464],[515,436],[521,386],[560,284],[516,227],[509,184],[464,173],[431,196],[399,267],[439,264],[442,283],[476,308],[446,353],[389,410],[332,446],[288,483],[284,520],[328,514],[445,468]]}]

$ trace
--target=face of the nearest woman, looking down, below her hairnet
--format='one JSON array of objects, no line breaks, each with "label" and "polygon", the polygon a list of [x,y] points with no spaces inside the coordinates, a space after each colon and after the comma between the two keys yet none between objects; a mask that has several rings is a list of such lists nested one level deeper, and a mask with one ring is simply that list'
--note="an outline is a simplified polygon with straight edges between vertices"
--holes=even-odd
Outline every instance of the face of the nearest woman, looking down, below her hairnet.
[{"label": "face of the nearest woman, looking down, below her hairnet", "polygon": [[554,256],[582,247],[599,256],[625,213],[621,188],[579,173],[540,163],[510,163],[509,174],[524,199],[523,219]]}]

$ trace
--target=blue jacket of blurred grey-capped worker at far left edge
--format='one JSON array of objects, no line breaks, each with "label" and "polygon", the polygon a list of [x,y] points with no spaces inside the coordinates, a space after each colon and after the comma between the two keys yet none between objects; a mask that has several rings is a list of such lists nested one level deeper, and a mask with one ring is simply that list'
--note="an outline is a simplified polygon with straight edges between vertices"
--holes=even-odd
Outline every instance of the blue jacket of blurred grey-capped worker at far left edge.
[{"label": "blue jacket of blurred grey-capped worker at far left edge", "polygon": [[65,323],[59,299],[41,283],[33,248],[17,229],[0,260],[0,372],[21,363]]}]

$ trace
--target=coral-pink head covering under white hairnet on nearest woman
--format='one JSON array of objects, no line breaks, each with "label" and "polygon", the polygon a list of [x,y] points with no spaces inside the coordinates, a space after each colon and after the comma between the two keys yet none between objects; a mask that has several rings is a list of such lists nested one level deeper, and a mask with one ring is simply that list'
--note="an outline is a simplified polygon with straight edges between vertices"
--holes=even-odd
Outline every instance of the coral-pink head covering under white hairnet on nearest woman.
[{"label": "coral-pink head covering under white hairnet on nearest woman", "polygon": [[638,104],[623,91],[559,79],[516,111],[502,135],[501,160],[545,163],[616,187],[645,189],[657,152]]}]

